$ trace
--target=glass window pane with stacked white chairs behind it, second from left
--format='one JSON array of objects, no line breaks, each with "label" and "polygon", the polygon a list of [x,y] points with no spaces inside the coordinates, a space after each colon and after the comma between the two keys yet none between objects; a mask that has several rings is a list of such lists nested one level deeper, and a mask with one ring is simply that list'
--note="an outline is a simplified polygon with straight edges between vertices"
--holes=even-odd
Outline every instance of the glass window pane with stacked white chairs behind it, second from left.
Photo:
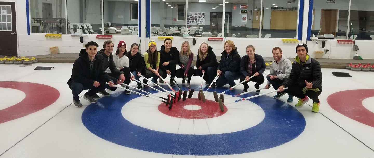
[{"label": "glass window pane with stacked white chairs behind it, second from left", "polygon": [[67,0],[68,34],[102,34],[101,0]]}]

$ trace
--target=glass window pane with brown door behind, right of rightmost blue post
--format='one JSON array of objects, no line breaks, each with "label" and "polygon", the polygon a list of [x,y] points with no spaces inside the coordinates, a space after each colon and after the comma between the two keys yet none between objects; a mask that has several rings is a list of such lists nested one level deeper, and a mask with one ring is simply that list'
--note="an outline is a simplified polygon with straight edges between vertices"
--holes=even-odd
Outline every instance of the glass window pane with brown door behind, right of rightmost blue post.
[{"label": "glass window pane with brown door behind, right of rightmost blue post", "polygon": [[349,0],[314,0],[311,36],[346,39],[348,7]]}]

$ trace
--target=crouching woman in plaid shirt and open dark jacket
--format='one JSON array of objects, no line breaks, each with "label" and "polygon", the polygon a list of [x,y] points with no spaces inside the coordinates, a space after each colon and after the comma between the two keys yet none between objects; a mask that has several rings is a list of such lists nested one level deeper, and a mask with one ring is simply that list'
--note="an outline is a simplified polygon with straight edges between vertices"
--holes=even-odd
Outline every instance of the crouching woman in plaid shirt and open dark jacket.
[{"label": "crouching woman in plaid shirt and open dark jacket", "polygon": [[[246,48],[246,56],[243,56],[240,61],[240,82],[247,80],[247,82],[242,83],[244,85],[243,92],[248,91],[248,82],[255,82],[255,89],[260,88],[260,85],[264,83],[265,79],[262,73],[264,73],[266,65],[264,59],[255,54],[255,47],[253,45],[248,45]],[[249,77],[254,76],[249,79]],[[260,92],[260,90],[256,91]]]}]

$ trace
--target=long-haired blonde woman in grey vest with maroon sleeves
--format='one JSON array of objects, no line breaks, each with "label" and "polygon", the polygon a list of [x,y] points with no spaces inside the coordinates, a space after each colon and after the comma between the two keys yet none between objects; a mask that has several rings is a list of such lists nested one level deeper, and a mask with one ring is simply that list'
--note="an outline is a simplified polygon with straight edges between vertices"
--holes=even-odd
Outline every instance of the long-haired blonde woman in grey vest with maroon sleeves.
[{"label": "long-haired blonde woman in grey vest with maroon sleeves", "polygon": [[184,41],[182,43],[181,49],[179,51],[179,66],[180,69],[175,71],[175,77],[182,78],[182,84],[186,83],[186,76],[187,76],[187,85],[186,87],[190,87],[191,77],[195,73],[195,69],[193,69],[193,53],[190,50],[190,43]]}]

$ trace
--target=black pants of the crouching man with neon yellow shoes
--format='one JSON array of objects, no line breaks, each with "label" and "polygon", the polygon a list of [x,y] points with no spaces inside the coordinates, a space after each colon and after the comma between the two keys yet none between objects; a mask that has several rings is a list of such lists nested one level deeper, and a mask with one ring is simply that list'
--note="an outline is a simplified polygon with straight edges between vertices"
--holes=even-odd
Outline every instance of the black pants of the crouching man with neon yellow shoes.
[{"label": "black pants of the crouching man with neon yellow shoes", "polygon": [[298,85],[293,85],[289,87],[288,89],[285,89],[283,92],[286,92],[288,94],[291,94],[299,99],[303,99],[305,95],[313,100],[313,102],[319,102],[318,96],[321,95],[322,89],[318,92],[314,91],[306,91],[306,94],[303,94],[303,88]]}]

